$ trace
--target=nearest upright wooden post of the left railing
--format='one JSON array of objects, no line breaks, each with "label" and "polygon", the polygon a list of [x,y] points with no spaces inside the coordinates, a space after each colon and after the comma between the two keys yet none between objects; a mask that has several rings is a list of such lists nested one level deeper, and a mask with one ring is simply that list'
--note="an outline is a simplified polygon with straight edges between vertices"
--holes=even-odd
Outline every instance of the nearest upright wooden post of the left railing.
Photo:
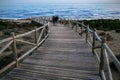
[{"label": "nearest upright wooden post of the left railing", "polygon": [[13,37],[13,55],[14,55],[14,60],[16,61],[16,67],[18,67],[18,55],[17,55],[17,47],[16,47],[16,40],[15,40],[15,34],[12,32],[12,37]]}]

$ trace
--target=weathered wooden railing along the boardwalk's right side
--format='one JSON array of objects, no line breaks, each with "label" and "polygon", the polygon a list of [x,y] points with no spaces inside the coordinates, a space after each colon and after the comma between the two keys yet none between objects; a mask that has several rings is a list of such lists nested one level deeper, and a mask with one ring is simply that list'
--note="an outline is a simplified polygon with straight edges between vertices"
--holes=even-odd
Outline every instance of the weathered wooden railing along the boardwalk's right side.
[{"label": "weathered wooden railing along the boardwalk's right side", "polygon": [[[113,80],[109,59],[115,64],[115,67],[118,69],[119,72],[120,72],[120,61],[116,58],[115,54],[108,47],[108,45],[105,42],[105,39],[100,38],[95,30],[90,29],[89,25],[85,25],[83,22],[80,23],[77,20],[69,20],[69,19],[61,19],[61,22],[62,20],[65,21],[68,24],[68,26],[71,27],[72,29],[75,28],[75,31],[79,32],[81,36],[83,35],[83,33],[85,33],[86,43],[90,45],[92,49],[92,53],[96,56],[96,59],[98,61],[99,74],[101,76],[101,79]],[[100,45],[96,44],[96,41]],[[100,55],[98,54],[96,49],[100,49],[99,51]]]}]

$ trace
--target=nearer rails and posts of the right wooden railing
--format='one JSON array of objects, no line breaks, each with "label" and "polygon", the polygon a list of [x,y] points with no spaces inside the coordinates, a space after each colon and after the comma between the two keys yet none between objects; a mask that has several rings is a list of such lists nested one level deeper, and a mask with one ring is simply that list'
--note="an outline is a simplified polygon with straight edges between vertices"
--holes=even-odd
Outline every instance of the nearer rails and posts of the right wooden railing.
[{"label": "nearer rails and posts of the right wooden railing", "polygon": [[[84,26],[84,24],[81,24]],[[87,26],[84,26],[84,28],[87,28]],[[92,43],[92,52],[95,53],[98,63],[100,61],[100,74],[103,80],[106,80],[105,78],[105,74],[104,71],[106,70],[107,72],[107,79],[108,80],[112,80],[112,74],[111,74],[111,69],[110,69],[110,65],[109,65],[109,60],[107,55],[110,55],[110,58],[112,59],[113,63],[116,65],[117,69],[120,71],[120,62],[118,61],[118,59],[115,57],[115,55],[113,54],[113,52],[111,51],[111,49],[107,46],[107,44],[104,42],[104,40],[101,40],[100,37],[98,36],[98,34],[94,31],[91,30],[90,28],[87,29],[88,33],[93,33],[93,43]],[[87,37],[87,35],[86,35]],[[90,38],[90,40],[92,40],[91,35],[88,36],[88,38]],[[99,56],[96,53],[96,51],[94,49],[96,48],[100,48],[95,47],[95,40],[97,39],[98,42],[100,42],[101,45],[101,60],[99,60]],[[91,44],[89,40],[86,39],[86,41],[88,42],[88,44]],[[107,50],[107,52],[106,52]],[[105,65],[104,65],[105,64]],[[105,70],[104,70],[105,67]]]}]

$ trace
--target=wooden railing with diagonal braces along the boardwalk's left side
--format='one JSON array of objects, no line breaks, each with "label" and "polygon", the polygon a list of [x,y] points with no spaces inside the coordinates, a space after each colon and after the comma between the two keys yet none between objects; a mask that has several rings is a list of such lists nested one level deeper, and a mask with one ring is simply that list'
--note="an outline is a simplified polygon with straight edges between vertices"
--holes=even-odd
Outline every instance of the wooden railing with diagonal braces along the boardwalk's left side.
[{"label": "wooden railing with diagonal braces along the boardwalk's left side", "polygon": [[[46,23],[45,25],[43,25],[39,28],[35,28],[32,31],[29,31],[29,32],[26,32],[26,33],[23,33],[23,34],[19,34],[19,35],[15,35],[15,33],[13,32],[12,36],[10,38],[0,40],[0,44],[7,43],[6,45],[4,45],[4,47],[2,47],[2,49],[0,49],[0,56],[4,55],[3,52],[5,52],[6,49],[10,46],[12,47],[12,51],[13,51],[12,54],[14,55],[14,60],[12,62],[10,62],[8,65],[6,65],[5,67],[3,67],[2,69],[0,69],[0,75],[4,74],[12,66],[17,67],[19,65],[19,63],[21,62],[21,60],[23,60],[26,56],[28,56],[35,49],[37,49],[47,39],[47,37],[48,37],[48,26],[49,26],[49,23]],[[29,42],[29,40],[25,41],[25,40],[22,40],[22,39],[18,39],[18,38],[26,37],[30,34],[34,35],[34,39],[33,39],[34,42]],[[31,49],[29,49],[27,52],[23,53],[20,57],[18,57],[17,42],[29,44],[29,45],[32,45],[33,47]]]}]

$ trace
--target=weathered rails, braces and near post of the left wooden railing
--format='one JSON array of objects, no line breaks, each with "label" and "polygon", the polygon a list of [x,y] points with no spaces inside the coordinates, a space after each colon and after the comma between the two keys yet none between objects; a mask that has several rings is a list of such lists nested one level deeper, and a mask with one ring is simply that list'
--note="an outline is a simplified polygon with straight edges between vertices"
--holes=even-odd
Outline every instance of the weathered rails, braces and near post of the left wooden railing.
[{"label": "weathered rails, braces and near post of the left wooden railing", "polygon": [[[4,42],[9,42],[5,47],[3,47],[1,50],[0,50],[0,54],[3,53],[3,51],[5,51],[11,44],[12,44],[12,50],[13,50],[13,54],[14,54],[14,60],[13,62],[11,62],[9,65],[5,66],[3,69],[0,70],[0,74],[2,74],[3,72],[5,72],[6,70],[8,70],[9,68],[11,68],[12,66],[18,66],[18,62],[20,60],[22,60],[25,56],[27,56],[28,54],[30,54],[33,50],[36,49],[36,47],[33,47],[31,50],[29,50],[28,52],[26,52],[24,55],[22,55],[19,59],[18,59],[18,56],[17,56],[17,47],[16,47],[16,41],[19,41],[19,42],[23,42],[23,43],[27,43],[27,44],[30,44],[30,45],[36,45],[34,43],[31,43],[31,42],[27,42],[27,41],[23,41],[23,40],[19,40],[19,39],[16,39],[16,38],[20,38],[20,37],[24,37],[24,36],[27,36],[31,33],[36,33],[38,30],[41,30],[43,28],[45,28],[48,24],[45,24],[44,26],[42,27],[39,27],[39,28],[36,28],[35,30],[32,30],[32,31],[29,31],[29,32],[26,32],[26,33],[23,33],[23,34],[20,34],[20,35],[14,35],[14,33],[12,33],[12,37],[10,38],[7,38],[7,39],[3,39],[3,40],[0,40],[0,44],[1,43],[4,43]],[[36,38],[37,38],[37,35],[35,34],[34,35]],[[47,35],[48,36],[48,35]],[[11,41],[12,40],[12,41]],[[46,40],[46,37],[39,43],[39,45],[42,44],[43,41]],[[37,43],[38,44],[38,43]],[[15,64],[14,64],[15,62]]]}]

